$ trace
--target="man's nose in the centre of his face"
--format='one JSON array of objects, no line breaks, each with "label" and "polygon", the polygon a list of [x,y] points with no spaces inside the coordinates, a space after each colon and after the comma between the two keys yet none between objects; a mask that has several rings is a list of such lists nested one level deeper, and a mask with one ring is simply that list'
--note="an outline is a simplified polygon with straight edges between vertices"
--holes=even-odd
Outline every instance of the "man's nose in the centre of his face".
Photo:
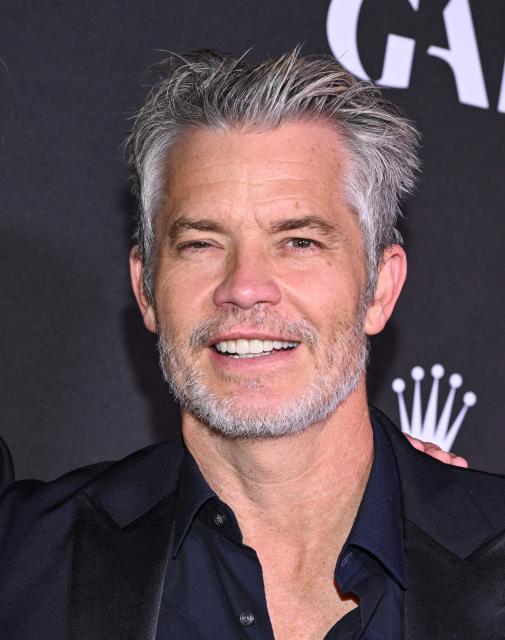
[{"label": "man's nose in the centre of his face", "polygon": [[234,305],[251,309],[257,304],[276,305],[280,300],[281,291],[268,259],[254,250],[242,251],[233,257],[214,291],[214,304],[218,307]]}]

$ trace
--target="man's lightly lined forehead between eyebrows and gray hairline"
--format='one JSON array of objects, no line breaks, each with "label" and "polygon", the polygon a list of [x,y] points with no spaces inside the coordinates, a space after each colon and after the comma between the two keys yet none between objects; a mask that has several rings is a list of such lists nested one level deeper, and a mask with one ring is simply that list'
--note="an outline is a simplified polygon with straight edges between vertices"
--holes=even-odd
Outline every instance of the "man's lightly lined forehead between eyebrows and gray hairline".
[{"label": "man's lightly lined forehead between eyebrows and gray hairline", "polygon": [[347,164],[341,136],[323,122],[261,131],[194,129],[170,150],[167,204],[219,200],[260,207],[294,198],[331,206],[341,198]]}]

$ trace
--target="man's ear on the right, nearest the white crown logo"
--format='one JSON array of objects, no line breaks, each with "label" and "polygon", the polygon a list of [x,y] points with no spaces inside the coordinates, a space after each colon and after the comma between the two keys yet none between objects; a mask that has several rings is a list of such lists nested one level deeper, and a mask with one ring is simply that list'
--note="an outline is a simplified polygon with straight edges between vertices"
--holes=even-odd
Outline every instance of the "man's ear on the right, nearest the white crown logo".
[{"label": "man's ear on the right, nearest the white crown logo", "polygon": [[375,296],[368,307],[365,318],[365,331],[372,336],[380,333],[393,313],[398,296],[407,277],[407,256],[399,244],[391,245],[384,250]]}]

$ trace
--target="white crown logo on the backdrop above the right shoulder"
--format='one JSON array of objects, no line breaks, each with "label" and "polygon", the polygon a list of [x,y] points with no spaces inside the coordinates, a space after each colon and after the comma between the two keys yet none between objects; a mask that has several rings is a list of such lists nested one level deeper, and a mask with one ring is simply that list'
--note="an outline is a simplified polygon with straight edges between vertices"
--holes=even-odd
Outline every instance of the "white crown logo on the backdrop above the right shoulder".
[{"label": "white crown logo on the backdrop above the right shoulder", "polygon": [[467,391],[463,395],[463,406],[458,415],[451,423],[451,413],[454,406],[456,391],[463,384],[463,378],[459,373],[453,373],[449,377],[450,390],[447,395],[444,407],[438,416],[438,394],[440,380],[444,377],[445,370],[441,364],[435,364],[431,368],[433,383],[431,385],[430,396],[426,406],[426,413],[422,415],[421,380],[424,378],[424,369],[414,367],[410,372],[414,380],[414,395],[412,401],[412,415],[409,419],[405,398],[405,381],[401,378],[393,380],[393,391],[398,395],[398,407],[400,411],[400,422],[403,433],[408,433],[414,438],[420,438],[426,442],[434,442],[444,451],[449,451],[461,429],[463,420],[469,407],[473,407],[477,402],[477,396],[473,391]]}]

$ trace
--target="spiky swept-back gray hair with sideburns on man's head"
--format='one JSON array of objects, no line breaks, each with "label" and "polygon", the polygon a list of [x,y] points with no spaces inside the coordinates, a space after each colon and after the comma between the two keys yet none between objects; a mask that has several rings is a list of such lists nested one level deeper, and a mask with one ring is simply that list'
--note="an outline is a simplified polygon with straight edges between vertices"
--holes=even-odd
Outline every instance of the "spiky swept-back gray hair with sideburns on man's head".
[{"label": "spiky swept-back gray hair with sideburns on man's head", "polygon": [[300,47],[258,64],[211,50],[172,55],[156,70],[159,80],[126,141],[147,298],[153,301],[154,220],[177,137],[192,128],[268,129],[324,120],[348,153],[343,186],[363,232],[365,295],[371,300],[384,249],[402,241],[396,229],[399,204],[412,191],[419,168],[419,134],[412,123],[372,83],[357,80],[331,56],[302,57]]}]

